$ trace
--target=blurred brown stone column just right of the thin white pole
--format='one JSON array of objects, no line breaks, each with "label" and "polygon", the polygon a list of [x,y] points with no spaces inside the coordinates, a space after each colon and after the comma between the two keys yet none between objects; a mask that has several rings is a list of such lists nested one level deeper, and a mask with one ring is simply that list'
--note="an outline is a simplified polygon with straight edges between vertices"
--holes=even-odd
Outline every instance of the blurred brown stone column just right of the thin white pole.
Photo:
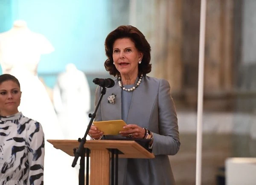
[{"label": "blurred brown stone column just right of the thin white pole", "polygon": [[207,1],[205,91],[232,89],[233,0]]}]

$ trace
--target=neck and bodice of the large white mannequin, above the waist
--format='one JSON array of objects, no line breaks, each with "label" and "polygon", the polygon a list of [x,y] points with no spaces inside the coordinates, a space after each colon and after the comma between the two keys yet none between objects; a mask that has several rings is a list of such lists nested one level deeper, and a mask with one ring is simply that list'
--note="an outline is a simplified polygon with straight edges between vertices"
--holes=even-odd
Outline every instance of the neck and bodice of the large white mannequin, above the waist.
[{"label": "neck and bodice of the large white mannequin, above the waist", "polygon": [[51,43],[41,34],[32,32],[24,21],[15,21],[9,31],[0,34],[0,64],[3,74],[19,68],[37,75],[41,54],[54,51]]}]

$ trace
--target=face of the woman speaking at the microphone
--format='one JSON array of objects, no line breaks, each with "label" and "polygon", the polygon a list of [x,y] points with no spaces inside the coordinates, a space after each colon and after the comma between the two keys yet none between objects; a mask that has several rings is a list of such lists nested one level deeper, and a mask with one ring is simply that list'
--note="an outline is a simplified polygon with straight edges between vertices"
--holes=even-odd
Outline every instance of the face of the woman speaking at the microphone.
[{"label": "face of the woman speaking at the microphone", "polygon": [[113,61],[121,75],[138,74],[139,61],[143,53],[138,51],[129,38],[117,39],[113,44]]}]

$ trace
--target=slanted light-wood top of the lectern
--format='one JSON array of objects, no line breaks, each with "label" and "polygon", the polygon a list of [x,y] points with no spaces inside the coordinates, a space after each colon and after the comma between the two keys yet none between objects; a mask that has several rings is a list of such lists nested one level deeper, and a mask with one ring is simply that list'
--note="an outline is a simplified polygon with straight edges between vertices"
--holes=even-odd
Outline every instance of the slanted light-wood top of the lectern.
[{"label": "slanted light-wood top of the lectern", "polygon": [[[47,140],[53,145],[54,148],[60,149],[70,156],[74,156],[74,148],[78,148],[80,142],[77,140]],[[154,154],[147,151],[140,144],[135,141],[124,140],[87,140],[84,144],[84,148],[90,150],[108,150],[116,148],[123,154],[119,154],[120,158],[154,158]]]}]

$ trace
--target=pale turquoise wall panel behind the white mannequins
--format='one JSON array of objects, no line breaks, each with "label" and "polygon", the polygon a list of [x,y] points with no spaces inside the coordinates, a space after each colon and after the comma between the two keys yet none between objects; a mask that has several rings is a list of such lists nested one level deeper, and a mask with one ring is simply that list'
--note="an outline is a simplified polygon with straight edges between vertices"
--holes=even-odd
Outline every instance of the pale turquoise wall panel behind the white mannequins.
[{"label": "pale turquoise wall panel behind the white mannequins", "polygon": [[[64,71],[74,63],[84,72],[105,71],[104,41],[110,17],[105,0],[0,0],[7,26],[25,20],[30,30],[43,34],[55,51],[41,56],[38,74]],[[9,2],[9,4],[8,4]],[[8,11],[6,6],[8,5]],[[8,14],[8,18],[6,18]],[[1,21],[1,20],[0,20]],[[2,22],[1,21],[1,22]]]}]

